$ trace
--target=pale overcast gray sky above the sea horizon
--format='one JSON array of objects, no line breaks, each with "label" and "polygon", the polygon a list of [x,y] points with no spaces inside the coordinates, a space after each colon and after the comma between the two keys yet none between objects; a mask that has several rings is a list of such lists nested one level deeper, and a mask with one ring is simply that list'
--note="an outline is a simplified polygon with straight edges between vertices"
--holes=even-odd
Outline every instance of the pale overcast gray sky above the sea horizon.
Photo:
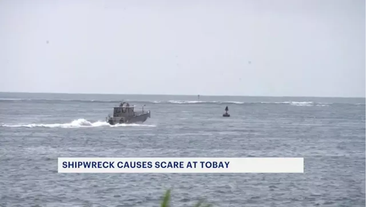
[{"label": "pale overcast gray sky above the sea horizon", "polygon": [[366,97],[365,0],[0,0],[0,28],[0,91]]}]

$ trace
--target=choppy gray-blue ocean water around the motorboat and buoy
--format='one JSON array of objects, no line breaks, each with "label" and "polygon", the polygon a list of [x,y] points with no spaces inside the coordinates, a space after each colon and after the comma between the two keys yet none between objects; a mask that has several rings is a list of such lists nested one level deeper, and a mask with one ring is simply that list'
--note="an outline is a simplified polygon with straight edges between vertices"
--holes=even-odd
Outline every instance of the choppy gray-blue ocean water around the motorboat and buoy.
[{"label": "choppy gray-blue ocean water around the motorboat and buoy", "polygon": [[[110,126],[119,101],[152,115]],[[366,99],[0,93],[0,206],[366,206]],[[231,117],[222,117],[228,106]],[[58,174],[57,157],[304,157],[303,174]]]}]

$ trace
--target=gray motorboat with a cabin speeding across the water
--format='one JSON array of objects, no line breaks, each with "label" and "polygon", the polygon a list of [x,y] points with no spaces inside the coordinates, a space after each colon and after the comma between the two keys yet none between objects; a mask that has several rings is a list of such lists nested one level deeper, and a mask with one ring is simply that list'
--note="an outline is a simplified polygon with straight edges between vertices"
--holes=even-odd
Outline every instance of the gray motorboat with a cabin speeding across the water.
[{"label": "gray motorboat with a cabin speeding across the water", "polygon": [[134,112],[135,106],[130,106],[130,104],[127,102],[123,102],[118,107],[114,107],[113,116],[108,115],[105,120],[111,125],[139,122],[143,123],[147,120],[147,118],[150,118],[150,110],[144,113],[143,106],[142,112]]}]

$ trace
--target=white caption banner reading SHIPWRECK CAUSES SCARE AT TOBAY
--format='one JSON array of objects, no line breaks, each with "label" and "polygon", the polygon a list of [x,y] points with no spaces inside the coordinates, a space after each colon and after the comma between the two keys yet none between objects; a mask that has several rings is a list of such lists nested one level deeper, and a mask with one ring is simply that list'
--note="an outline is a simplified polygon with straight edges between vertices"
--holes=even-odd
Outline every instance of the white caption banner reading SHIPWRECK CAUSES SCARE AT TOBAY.
[{"label": "white caption banner reading SHIPWRECK CAUSES SCARE AT TOBAY", "polygon": [[303,173],[303,158],[58,158],[59,173]]}]

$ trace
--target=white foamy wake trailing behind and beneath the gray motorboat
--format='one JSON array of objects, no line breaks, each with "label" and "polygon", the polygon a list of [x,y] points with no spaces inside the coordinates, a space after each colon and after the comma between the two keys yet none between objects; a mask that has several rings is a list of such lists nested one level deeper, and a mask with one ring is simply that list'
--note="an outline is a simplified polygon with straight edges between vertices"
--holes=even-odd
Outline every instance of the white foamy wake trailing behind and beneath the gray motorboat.
[{"label": "white foamy wake trailing behind and beneath the gray motorboat", "polygon": [[109,123],[105,121],[96,121],[96,122],[90,122],[85,120],[84,118],[79,118],[78,120],[74,120],[70,123],[64,123],[64,124],[18,124],[18,125],[7,125],[3,124],[0,125],[1,127],[27,127],[27,128],[33,128],[33,127],[46,127],[46,128],[85,128],[85,127],[129,127],[129,126],[135,126],[135,127],[156,127],[155,125],[146,125],[146,124],[116,124],[116,125],[110,125]]}]

